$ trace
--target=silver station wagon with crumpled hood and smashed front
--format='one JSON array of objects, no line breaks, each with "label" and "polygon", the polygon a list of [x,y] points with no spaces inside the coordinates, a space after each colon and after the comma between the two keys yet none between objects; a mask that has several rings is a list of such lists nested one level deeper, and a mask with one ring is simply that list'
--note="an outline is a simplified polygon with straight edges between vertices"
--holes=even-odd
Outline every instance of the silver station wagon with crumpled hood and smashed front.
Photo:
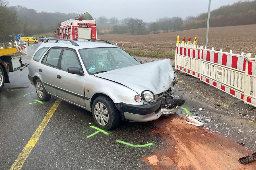
[{"label": "silver station wagon with crumpled hood and smashed front", "polygon": [[173,90],[170,59],[143,63],[104,40],[46,39],[29,64],[41,101],[51,95],[92,112],[102,129],[120,120],[147,122],[174,114],[185,100]]}]

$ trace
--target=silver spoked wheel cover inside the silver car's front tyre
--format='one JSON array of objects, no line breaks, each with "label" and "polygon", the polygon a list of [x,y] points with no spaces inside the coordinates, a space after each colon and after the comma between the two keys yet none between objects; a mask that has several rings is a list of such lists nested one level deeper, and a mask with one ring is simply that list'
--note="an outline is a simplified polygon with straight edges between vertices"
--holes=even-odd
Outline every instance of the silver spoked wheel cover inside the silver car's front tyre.
[{"label": "silver spoked wheel cover inside the silver car's front tyre", "polygon": [[101,102],[96,103],[96,105],[94,106],[94,116],[96,118],[96,121],[101,126],[105,126],[106,124],[108,124],[108,119],[109,119],[108,109],[103,103]]}]

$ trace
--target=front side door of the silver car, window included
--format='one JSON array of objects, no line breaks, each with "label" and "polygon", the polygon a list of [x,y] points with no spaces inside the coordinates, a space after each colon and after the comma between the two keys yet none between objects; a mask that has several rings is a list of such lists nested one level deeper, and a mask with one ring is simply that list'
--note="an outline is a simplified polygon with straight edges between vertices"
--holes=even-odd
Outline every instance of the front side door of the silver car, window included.
[{"label": "front side door of the silver car, window included", "polygon": [[82,70],[77,52],[64,48],[59,61],[59,69],[56,72],[57,95],[71,103],[85,107],[84,76],[68,73],[69,67],[78,67]]}]

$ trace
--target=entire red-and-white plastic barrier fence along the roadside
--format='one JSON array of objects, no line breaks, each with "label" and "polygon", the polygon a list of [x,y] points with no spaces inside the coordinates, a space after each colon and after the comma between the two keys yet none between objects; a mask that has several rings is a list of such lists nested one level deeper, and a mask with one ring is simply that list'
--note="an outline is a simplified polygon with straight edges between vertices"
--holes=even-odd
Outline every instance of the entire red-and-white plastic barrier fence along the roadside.
[{"label": "entire red-and-white plastic barrier fence along the roadside", "polygon": [[256,59],[203,46],[176,44],[176,69],[200,78],[244,103],[256,107]]}]

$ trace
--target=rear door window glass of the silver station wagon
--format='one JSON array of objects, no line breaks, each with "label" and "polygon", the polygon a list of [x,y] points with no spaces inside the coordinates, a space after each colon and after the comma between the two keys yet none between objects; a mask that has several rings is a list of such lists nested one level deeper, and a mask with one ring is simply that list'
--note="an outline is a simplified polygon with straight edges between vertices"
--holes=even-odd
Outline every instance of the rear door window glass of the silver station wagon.
[{"label": "rear door window glass of the silver station wagon", "polygon": [[57,68],[60,53],[61,49],[58,48],[53,48],[49,50],[47,56],[44,58],[42,63]]}]

